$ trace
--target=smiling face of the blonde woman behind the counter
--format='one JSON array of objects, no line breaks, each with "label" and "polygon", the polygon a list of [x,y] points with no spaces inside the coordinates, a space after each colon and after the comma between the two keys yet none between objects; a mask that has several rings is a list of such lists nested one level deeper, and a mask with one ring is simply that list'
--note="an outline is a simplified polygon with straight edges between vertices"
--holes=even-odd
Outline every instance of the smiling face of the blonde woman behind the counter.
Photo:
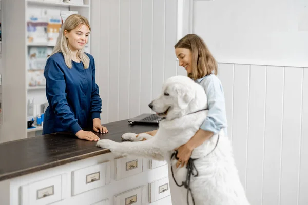
[{"label": "smiling face of the blonde woman behind the counter", "polygon": [[68,39],[68,45],[71,51],[83,49],[88,42],[89,34],[89,27],[84,24],[77,26],[70,32],[67,30],[64,31],[64,35]]}]

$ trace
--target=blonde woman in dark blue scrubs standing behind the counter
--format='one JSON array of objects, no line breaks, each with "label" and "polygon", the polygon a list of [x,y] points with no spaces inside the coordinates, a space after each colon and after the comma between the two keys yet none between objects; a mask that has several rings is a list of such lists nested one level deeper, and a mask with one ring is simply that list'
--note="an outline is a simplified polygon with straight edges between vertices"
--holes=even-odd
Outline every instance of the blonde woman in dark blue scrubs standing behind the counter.
[{"label": "blonde woman in dark blue scrubs standing behind the counter", "polygon": [[90,30],[85,17],[69,16],[47,59],[44,76],[49,106],[44,114],[43,134],[71,131],[80,139],[98,141],[97,135],[83,128],[108,132],[101,125],[102,100],[95,83],[94,58],[84,52]]}]

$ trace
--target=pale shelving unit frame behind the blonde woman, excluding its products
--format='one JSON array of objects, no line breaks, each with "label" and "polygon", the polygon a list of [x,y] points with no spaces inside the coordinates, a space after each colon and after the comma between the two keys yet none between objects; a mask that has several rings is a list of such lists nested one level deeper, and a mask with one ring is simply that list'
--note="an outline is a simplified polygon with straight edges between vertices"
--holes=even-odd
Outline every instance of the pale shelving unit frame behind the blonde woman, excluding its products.
[{"label": "pale shelving unit frame behind the blonde woman, excluding its products", "polygon": [[[29,50],[32,47],[51,47],[55,43],[29,43],[27,39],[28,12],[31,9],[50,9],[60,11],[77,11],[91,22],[91,0],[84,0],[83,5],[63,3],[61,1],[23,0],[16,3],[11,0],[1,0],[2,15],[2,56],[3,56],[3,119],[0,130],[1,141],[11,141],[33,136],[42,126],[27,129],[28,99],[34,98],[34,104],[47,102],[45,86],[29,86],[28,70]],[[14,26],[12,26],[14,25]],[[5,41],[5,43],[4,43]],[[89,39],[90,42],[90,39]],[[85,51],[90,53],[90,44]],[[36,116],[35,116],[36,118]],[[18,129],[16,129],[18,128]],[[12,135],[12,130],[14,134]]]}]

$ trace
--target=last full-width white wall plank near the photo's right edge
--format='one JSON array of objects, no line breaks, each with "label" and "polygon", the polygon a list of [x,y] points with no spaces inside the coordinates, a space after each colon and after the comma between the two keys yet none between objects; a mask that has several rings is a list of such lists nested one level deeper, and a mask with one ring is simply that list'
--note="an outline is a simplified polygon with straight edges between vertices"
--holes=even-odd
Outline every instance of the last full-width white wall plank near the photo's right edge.
[{"label": "last full-width white wall plank near the photo's right edge", "polygon": [[297,203],[302,68],[285,68],[280,204]]}]

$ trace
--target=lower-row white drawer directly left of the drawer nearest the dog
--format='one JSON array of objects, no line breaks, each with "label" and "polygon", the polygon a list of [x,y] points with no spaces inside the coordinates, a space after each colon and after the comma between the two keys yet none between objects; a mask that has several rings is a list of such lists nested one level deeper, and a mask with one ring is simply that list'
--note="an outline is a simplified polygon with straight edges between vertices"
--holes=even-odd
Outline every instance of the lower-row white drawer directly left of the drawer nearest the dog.
[{"label": "lower-row white drawer directly left of the drawer nearest the dog", "polygon": [[142,205],[144,187],[137,187],[114,196],[114,205]]}]

